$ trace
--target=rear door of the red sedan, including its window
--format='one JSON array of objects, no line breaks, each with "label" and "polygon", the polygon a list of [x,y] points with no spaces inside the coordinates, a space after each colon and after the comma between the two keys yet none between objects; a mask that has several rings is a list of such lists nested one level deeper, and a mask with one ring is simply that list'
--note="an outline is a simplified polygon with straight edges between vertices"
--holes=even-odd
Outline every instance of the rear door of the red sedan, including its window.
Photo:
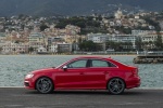
[{"label": "rear door of the red sedan, including its window", "polygon": [[89,59],[89,68],[85,72],[85,83],[89,89],[105,89],[106,78],[115,65],[103,59]]}]

